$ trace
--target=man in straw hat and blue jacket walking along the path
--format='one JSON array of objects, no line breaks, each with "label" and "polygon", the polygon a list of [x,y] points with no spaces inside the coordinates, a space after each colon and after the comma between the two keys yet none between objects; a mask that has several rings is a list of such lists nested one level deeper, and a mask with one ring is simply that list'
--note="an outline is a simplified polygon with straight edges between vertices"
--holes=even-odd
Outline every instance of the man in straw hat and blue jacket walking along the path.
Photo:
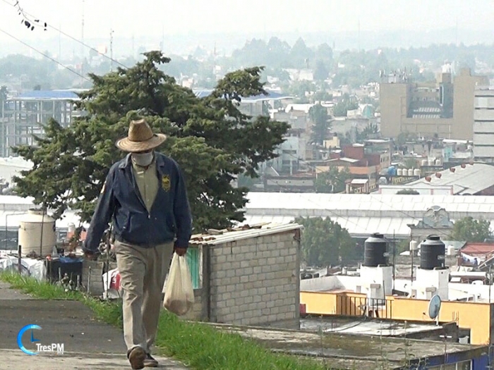
[{"label": "man in straw hat and blue jacket walking along the path", "polygon": [[132,121],[116,147],[129,154],[110,168],[83,250],[97,252],[113,221],[116,264],[123,290],[123,337],[132,369],[156,367],[155,341],[162,288],[173,252],[186,254],[191,211],[179,165],[154,151],[166,140],[145,120]]}]

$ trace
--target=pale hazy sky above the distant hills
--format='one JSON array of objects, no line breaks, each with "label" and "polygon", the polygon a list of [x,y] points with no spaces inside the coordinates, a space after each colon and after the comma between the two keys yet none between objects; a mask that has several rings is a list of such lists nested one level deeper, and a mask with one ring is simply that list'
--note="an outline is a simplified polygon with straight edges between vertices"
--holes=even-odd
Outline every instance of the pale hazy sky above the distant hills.
[{"label": "pale hazy sky above the distant hills", "polygon": [[[13,6],[0,0],[0,30],[28,42],[56,32],[28,31]],[[8,4],[6,4],[8,3]],[[49,25],[80,37],[173,35],[189,32],[249,34],[296,31],[438,30],[493,32],[493,0],[19,0]],[[83,11],[84,9],[84,11]],[[109,36],[108,36],[109,37]],[[0,41],[8,37],[0,32]],[[10,40],[9,40],[10,41]],[[494,40],[493,40],[494,41]]]}]

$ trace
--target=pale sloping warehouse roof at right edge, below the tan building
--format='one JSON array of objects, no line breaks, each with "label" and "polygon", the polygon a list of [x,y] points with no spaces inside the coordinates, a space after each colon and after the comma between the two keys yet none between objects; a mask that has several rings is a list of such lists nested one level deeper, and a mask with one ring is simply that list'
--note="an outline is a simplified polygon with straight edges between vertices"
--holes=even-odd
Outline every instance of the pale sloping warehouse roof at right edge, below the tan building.
[{"label": "pale sloping warehouse roof at right edge, below the tan building", "polygon": [[454,172],[449,169],[440,171],[441,177],[431,176],[430,183],[425,178],[407,183],[406,187],[414,188],[415,185],[453,185],[455,195],[474,195],[494,185],[494,166],[488,164],[467,164],[465,168],[456,166]]}]

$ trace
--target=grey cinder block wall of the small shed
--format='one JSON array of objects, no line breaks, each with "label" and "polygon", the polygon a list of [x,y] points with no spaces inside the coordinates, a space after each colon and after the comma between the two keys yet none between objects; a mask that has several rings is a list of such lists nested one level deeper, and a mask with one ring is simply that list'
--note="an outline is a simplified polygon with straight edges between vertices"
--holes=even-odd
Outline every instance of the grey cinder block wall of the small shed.
[{"label": "grey cinder block wall of the small shed", "polygon": [[234,325],[299,321],[299,230],[210,246],[210,319]]}]

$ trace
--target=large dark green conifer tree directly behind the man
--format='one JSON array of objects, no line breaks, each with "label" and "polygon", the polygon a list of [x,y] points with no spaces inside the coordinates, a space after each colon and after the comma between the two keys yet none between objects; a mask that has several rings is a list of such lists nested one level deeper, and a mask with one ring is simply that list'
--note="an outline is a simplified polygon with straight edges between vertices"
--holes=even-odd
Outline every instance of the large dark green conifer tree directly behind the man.
[{"label": "large dark green conifer tree directly behind the man", "polygon": [[231,182],[241,173],[255,176],[259,164],[276,156],[288,129],[287,123],[238,109],[240,97],[265,93],[262,68],[228,73],[209,97],[199,99],[160,69],[168,62],[150,51],[132,68],[90,74],[94,86],[78,102],[87,116],[68,128],[50,121],[45,136],[35,138],[37,147],[15,148],[34,164],[16,178],[18,194],[56,210],[56,217],[70,206],[89,221],[109,167],[123,156],[114,142],[126,136],[132,119],[145,116],[153,130],[169,137],[159,150],[183,169],[195,231],[242,221],[246,188]]}]

